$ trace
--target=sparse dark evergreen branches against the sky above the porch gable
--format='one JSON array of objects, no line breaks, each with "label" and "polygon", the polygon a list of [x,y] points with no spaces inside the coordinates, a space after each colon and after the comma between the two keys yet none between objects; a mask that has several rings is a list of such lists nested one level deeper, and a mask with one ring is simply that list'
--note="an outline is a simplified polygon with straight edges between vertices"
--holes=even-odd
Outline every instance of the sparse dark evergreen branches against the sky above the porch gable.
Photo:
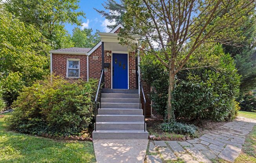
[{"label": "sparse dark evergreen branches against the sky above the porch gable", "polygon": [[126,12],[124,0],[120,0],[120,2],[108,0],[102,6],[105,10],[94,9],[111,23],[115,22],[114,25],[107,25],[108,28],[113,29],[117,24],[123,23],[123,15]]}]

